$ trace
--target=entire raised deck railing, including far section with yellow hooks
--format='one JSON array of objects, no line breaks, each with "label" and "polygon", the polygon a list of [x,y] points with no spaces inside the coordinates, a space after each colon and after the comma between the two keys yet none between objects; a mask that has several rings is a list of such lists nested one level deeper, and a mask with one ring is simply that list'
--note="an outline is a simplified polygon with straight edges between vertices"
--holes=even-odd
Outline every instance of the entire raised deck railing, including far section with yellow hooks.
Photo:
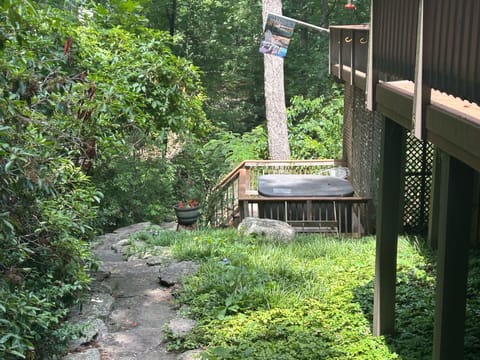
[{"label": "entire raised deck railing, including far section with yellow hooks", "polygon": [[[334,76],[364,88],[356,79],[358,73],[367,72],[365,38],[371,28],[375,83],[378,79],[415,81],[421,69],[424,87],[480,104],[480,1],[374,0],[372,6],[370,27],[330,27]],[[422,33],[418,32],[420,21]]]}]

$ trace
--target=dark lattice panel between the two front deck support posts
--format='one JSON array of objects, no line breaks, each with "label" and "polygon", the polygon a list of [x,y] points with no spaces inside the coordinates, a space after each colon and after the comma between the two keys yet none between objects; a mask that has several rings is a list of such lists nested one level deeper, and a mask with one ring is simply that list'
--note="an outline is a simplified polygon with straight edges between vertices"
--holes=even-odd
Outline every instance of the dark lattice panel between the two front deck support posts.
[{"label": "dark lattice panel between the two front deck support posts", "polygon": [[433,155],[430,143],[412,135],[407,137],[403,211],[403,228],[407,233],[424,232],[428,227]]}]

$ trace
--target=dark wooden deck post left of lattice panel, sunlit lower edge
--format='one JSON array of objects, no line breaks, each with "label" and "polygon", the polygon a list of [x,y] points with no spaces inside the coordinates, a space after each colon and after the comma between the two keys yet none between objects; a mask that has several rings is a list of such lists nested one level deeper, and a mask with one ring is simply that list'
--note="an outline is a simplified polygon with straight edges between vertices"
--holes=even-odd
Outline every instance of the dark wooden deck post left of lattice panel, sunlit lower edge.
[{"label": "dark wooden deck post left of lattice panel, sunlit lower edge", "polygon": [[377,207],[373,333],[394,331],[397,242],[403,214],[406,133],[385,118]]}]

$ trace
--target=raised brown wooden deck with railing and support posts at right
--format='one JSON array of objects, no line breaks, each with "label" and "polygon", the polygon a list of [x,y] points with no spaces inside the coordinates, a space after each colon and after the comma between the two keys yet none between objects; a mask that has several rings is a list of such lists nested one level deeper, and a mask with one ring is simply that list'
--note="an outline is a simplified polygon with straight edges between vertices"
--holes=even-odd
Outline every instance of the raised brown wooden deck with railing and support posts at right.
[{"label": "raised brown wooden deck with railing and support posts at right", "polygon": [[[363,89],[356,64],[368,58],[363,71],[367,109],[383,117],[373,333],[395,331],[398,204],[405,191],[406,134],[411,132],[436,150],[429,229],[429,243],[437,248],[432,358],[461,359],[469,247],[479,213],[480,5],[477,0],[371,4],[368,56],[359,46],[363,44],[347,41],[355,34],[347,39],[347,30],[331,29],[330,69]],[[350,31],[364,36],[356,27]]]}]

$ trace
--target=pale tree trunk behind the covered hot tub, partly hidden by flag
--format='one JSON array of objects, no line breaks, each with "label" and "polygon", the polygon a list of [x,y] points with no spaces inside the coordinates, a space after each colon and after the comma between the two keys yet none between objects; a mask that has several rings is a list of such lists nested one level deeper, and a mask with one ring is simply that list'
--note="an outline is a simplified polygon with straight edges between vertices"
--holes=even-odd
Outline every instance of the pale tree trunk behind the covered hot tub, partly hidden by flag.
[{"label": "pale tree trunk behind the covered hot tub, partly hidden by flag", "polygon": [[[262,0],[263,23],[267,14],[282,14],[281,0]],[[290,159],[288,144],[287,109],[283,78],[283,58],[264,55],[265,108],[268,132],[268,153],[272,160]]]}]

